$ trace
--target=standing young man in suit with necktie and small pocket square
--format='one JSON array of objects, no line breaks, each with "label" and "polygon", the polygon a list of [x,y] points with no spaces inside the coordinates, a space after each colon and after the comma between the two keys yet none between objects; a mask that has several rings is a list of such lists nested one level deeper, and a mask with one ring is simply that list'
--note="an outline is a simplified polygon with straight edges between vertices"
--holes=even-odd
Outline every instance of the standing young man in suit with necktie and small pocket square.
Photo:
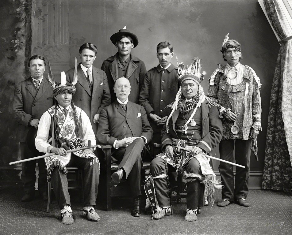
[{"label": "standing young man in suit with necktie and small pocket square", "polygon": [[[92,64],[96,58],[97,47],[84,43],[79,48],[81,63],[77,66],[78,82],[75,85],[74,103],[82,107],[90,118],[94,134],[97,132],[99,114],[103,107],[110,104],[109,85],[106,74]],[[66,72],[67,81],[72,83],[74,68]]]}]

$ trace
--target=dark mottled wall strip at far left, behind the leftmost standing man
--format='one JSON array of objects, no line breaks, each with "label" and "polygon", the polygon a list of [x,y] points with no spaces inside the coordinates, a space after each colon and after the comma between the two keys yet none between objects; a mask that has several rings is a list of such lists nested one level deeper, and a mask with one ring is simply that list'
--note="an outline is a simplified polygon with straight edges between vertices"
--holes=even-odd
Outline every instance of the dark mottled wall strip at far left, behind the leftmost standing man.
[{"label": "dark mottled wall strip at far left, behind the leftmost standing man", "polygon": [[[0,182],[17,182],[21,159],[19,143],[15,141],[17,122],[12,112],[15,85],[25,79],[25,64],[30,51],[30,0],[2,0],[0,8]],[[28,20],[29,19],[29,20]],[[30,41],[30,40],[29,40]],[[16,169],[11,175],[9,169]],[[15,173],[15,171],[13,171]]]}]

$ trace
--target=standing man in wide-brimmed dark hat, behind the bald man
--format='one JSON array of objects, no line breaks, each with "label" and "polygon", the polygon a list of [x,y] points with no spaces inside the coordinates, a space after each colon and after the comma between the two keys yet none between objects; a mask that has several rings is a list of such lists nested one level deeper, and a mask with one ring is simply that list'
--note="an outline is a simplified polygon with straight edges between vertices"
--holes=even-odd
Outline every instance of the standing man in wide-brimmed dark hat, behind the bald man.
[{"label": "standing man in wide-brimmed dark hat, behind the bald man", "polygon": [[102,63],[101,69],[106,72],[109,81],[111,100],[112,102],[116,100],[116,94],[113,90],[115,81],[120,77],[125,77],[129,80],[132,88],[129,100],[138,104],[146,73],[144,62],[131,54],[131,50],[138,45],[138,38],[125,26],[119,32],[113,34],[110,40],[117,47],[118,52],[107,58]]}]

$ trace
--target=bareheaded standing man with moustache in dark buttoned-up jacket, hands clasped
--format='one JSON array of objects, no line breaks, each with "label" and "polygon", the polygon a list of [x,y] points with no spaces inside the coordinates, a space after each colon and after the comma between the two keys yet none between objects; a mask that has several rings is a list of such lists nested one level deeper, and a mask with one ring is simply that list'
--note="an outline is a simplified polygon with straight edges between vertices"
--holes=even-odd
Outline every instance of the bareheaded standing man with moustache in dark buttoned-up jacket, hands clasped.
[{"label": "bareheaded standing man with moustache in dark buttoned-up jacket, hands clasped", "polygon": [[152,142],[161,144],[161,130],[171,110],[166,107],[175,99],[179,81],[178,69],[171,64],[173,46],[169,42],[161,42],[156,51],[159,65],[145,74],[139,102],[145,108],[153,129]]}]

